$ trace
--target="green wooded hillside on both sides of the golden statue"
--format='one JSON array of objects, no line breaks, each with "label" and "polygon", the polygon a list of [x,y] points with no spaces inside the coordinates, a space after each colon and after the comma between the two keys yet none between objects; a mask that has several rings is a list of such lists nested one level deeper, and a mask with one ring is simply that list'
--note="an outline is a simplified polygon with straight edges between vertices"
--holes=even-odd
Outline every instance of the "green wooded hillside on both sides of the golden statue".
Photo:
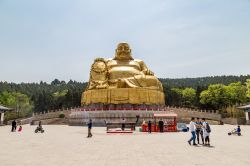
[{"label": "green wooded hillside on both sides of the golden statue", "polygon": [[[160,79],[166,105],[224,109],[250,101],[250,75]],[[14,109],[43,112],[80,106],[87,82],[59,79],[51,83],[0,82],[0,103]],[[26,103],[26,105],[24,104]],[[27,103],[29,103],[27,105]]]}]

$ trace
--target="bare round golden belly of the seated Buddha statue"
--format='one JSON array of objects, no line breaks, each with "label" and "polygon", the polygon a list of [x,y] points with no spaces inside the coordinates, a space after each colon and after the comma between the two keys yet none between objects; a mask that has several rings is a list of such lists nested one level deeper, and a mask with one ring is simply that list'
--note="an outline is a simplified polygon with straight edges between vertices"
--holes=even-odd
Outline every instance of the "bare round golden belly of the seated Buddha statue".
[{"label": "bare round golden belly of the seated Buddha statue", "polygon": [[109,79],[129,78],[139,75],[140,71],[130,66],[116,66],[109,70]]}]

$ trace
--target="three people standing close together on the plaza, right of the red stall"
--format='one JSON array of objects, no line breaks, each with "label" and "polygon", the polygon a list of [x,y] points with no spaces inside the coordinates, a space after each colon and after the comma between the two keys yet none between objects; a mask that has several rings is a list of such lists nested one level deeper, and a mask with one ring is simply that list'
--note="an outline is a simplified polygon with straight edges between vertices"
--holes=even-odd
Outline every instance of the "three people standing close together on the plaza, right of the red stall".
[{"label": "three people standing close together on the plaza, right of the red stall", "polygon": [[191,121],[189,123],[189,130],[191,132],[191,138],[188,140],[189,145],[191,145],[191,142],[193,142],[193,145],[196,144],[196,139],[197,143],[200,144],[200,138],[202,141],[202,144],[205,146],[210,146],[210,132],[211,128],[209,123],[206,121],[205,118],[191,118]]}]

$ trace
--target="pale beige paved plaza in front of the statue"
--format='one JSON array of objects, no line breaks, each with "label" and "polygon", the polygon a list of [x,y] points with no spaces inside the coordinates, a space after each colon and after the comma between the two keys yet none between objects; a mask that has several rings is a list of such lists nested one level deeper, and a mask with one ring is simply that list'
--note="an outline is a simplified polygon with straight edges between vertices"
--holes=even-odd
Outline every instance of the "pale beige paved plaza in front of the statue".
[{"label": "pale beige paved plaza in front of the statue", "polygon": [[0,127],[1,166],[185,166],[250,165],[250,126],[242,126],[243,136],[228,136],[235,126],[211,126],[212,147],[190,146],[190,133],[106,134],[94,127],[86,138],[86,127],[23,126],[22,133]]}]

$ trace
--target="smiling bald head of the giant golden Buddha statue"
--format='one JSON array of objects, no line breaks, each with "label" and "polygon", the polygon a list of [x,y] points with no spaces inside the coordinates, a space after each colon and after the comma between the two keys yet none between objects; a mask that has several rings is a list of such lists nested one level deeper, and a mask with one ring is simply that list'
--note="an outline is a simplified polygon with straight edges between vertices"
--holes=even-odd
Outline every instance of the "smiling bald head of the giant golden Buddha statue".
[{"label": "smiling bald head of the giant golden Buddha statue", "polygon": [[116,57],[115,59],[118,60],[132,60],[131,57],[131,49],[129,48],[129,45],[127,43],[120,43],[117,46],[116,51]]}]

